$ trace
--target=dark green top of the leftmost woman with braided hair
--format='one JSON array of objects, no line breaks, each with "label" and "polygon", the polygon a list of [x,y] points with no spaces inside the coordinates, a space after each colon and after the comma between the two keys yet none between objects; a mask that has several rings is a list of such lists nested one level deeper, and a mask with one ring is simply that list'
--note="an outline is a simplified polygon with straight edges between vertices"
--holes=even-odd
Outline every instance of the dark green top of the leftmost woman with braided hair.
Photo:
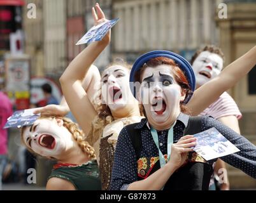
[{"label": "dark green top of the leftmost woman with braided hair", "polygon": [[63,166],[52,169],[48,180],[53,177],[71,182],[76,190],[101,190],[101,180],[96,160],[80,166]]}]

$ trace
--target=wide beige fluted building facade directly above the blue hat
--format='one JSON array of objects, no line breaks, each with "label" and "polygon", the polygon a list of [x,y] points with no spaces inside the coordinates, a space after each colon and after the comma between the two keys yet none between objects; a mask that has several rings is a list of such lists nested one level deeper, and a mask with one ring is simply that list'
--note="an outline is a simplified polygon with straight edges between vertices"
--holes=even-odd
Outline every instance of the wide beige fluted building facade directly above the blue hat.
[{"label": "wide beige fluted building facade directly above the blue hat", "polygon": [[215,0],[113,1],[115,52],[197,49],[217,43]]}]

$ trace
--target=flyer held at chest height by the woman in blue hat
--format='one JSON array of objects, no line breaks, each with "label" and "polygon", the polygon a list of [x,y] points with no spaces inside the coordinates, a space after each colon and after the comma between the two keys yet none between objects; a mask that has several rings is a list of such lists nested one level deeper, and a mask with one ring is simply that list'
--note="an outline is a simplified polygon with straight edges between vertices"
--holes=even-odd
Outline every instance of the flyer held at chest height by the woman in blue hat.
[{"label": "flyer held at chest height by the woman in blue hat", "polygon": [[216,128],[210,128],[201,133],[194,134],[197,145],[194,151],[205,160],[216,159],[240,150],[220,134]]}]

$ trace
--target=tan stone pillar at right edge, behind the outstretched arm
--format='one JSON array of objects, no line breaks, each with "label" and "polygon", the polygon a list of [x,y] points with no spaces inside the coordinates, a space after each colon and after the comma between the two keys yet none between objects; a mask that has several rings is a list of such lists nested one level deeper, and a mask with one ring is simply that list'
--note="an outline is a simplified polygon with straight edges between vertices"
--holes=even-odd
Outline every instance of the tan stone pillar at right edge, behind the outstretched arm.
[{"label": "tan stone pillar at right edge, behind the outstretched arm", "polygon": [[[226,65],[256,45],[256,2],[228,3],[227,19],[217,18],[217,23]],[[248,93],[248,75],[229,92],[243,114],[239,120],[241,134],[256,145],[256,95]],[[229,166],[228,174],[232,188],[256,188],[256,180],[238,169]]]}]

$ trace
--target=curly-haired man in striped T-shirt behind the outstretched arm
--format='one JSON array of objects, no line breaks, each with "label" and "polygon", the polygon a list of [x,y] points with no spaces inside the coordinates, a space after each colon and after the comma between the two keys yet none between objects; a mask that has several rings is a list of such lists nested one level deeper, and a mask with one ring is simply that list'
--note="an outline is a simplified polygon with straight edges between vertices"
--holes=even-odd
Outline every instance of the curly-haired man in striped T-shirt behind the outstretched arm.
[{"label": "curly-haired man in striped T-shirt behind the outstretched arm", "polygon": [[[200,88],[206,82],[217,77],[224,67],[224,53],[215,45],[204,46],[198,49],[192,56],[191,65],[196,75],[196,88]],[[238,119],[242,117],[236,102],[227,93],[224,92],[220,97],[206,108],[201,114],[211,116],[222,122],[236,133],[240,134]],[[219,169],[226,169],[225,162],[218,159],[215,166],[215,176],[218,176]],[[220,184],[220,190],[229,190],[229,180],[227,173],[224,173],[224,181]],[[210,190],[215,190],[214,178],[211,178]]]}]

